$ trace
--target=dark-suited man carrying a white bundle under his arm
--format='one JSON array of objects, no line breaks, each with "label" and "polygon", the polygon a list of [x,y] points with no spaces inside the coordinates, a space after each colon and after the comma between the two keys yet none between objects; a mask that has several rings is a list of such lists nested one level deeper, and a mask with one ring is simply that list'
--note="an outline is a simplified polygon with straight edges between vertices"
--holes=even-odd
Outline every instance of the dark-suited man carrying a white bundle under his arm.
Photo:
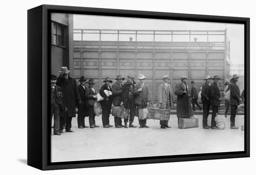
[{"label": "dark-suited man carrying a white bundle under his arm", "polygon": [[101,89],[99,91],[101,97],[104,98],[104,100],[101,101],[101,106],[102,106],[101,118],[102,118],[103,127],[109,128],[109,127],[113,127],[113,125],[109,125],[109,115],[111,112],[113,96],[112,95],[107,96],[104,90],[110,91],[112,94],[112,88],[110,87],[110,83],[112,83],[113,81],[109,77],[107,77],[103,82],[105,82],[105,84],[101,86]]}]

